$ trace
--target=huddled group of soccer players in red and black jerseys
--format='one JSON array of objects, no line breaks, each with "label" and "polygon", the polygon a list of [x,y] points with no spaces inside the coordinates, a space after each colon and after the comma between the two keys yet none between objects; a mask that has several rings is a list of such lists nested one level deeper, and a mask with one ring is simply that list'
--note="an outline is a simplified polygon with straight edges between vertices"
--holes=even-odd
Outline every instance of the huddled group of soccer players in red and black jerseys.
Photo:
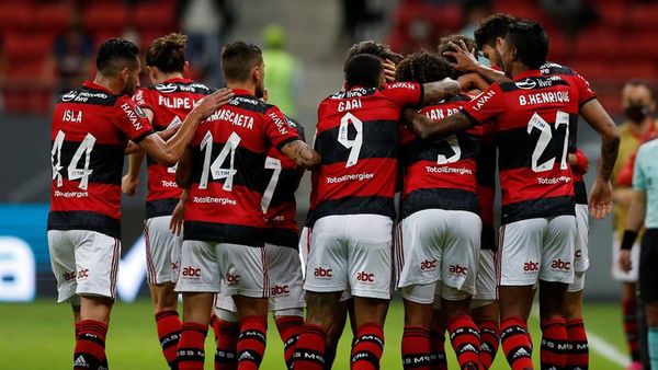
[{"label": "huddled group of soccer players in red and black jerseys", "polygon": [[[450,36],[406,57],[354,45],[343,88],[319,105],[313,148],[266,103],[256,45],[223,48],[216,91],[184,78],[184,46],[180,34],[156,39],[152,85],[138,89],[137,47],[110,39],[95,80],[56,105],[48,242],[58,301],[73,308],[75,369],[107,368],[121,192],[135,194],[145,155],[148,284],[170,369],[203,369],[208,326],[216,369],[258,369],[270,311],[288,369],[330,369],[348,316],[351,368],[387,368],[395,289],[405,369],[445,369],[445,333],[462,369],[488,369],[499,343],[511,369],[533,369],[537,289],[541,368],[587,369],[587,208],[594,218],[611,209],[619,134],[587,81],[546,61],[540,24],[497,14],[475,39]],[[589,200],[578,116],[602,140]],[[299,238],[305,170],[313,190]]]}]

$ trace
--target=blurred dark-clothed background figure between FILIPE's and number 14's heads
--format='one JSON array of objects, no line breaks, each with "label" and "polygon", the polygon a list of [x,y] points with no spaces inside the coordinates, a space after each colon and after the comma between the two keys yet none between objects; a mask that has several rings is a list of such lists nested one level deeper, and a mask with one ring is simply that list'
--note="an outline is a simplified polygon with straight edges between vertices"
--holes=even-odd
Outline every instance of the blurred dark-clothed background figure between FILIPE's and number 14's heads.
[{"label": "blurred dark-clothed background figure between FILIPE's and number 14's heads", "polygon": [[224,85],[220,51],[235,22],[230,0],[181,0],[177,14],[188,35],[190,65],[200,72],[200,80],[219,88]]}]

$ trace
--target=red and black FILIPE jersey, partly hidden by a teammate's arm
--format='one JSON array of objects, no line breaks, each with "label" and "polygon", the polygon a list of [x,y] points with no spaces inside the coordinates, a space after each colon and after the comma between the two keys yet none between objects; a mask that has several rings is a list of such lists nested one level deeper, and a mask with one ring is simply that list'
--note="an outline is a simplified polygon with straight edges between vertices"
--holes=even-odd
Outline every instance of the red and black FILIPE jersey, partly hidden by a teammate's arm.
[{"label": "red and black FILIPE jersey, partly hidden by a teammate's arm", "polygon": [[[188,79],[170,79],[137,90],[133,100],[141,108],[154,113],[151,126],[156,131],[182,124],[185,116],[204,96],[214,90]],[[169,216],[173,212],[182,189],[175,184],[175,166],[167,167],[147,157],[148,195],[146,218]]]}]

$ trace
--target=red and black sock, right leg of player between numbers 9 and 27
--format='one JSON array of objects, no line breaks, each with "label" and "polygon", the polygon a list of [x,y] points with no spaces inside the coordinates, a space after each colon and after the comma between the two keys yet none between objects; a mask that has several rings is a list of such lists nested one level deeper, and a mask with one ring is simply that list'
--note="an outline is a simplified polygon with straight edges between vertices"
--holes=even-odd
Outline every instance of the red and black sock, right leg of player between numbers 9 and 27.
[{"label": "red and black sock, right leg of player between numbers 9 and 27", "polygon": [[479,333],[473,319],[467,315],[454,316],[447,323],[452,343],[461,369],[479,369]]}]

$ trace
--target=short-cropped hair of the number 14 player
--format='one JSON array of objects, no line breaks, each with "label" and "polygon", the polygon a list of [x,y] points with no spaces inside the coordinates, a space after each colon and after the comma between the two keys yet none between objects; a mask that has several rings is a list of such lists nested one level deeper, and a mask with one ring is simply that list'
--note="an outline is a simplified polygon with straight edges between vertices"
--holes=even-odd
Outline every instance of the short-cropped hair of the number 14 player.
[{"label": "short-cropped hair of the number 14 player", "polygon": [[222,48],[222,71],[227,81],[247,81],[253,67],[262,61],[263,53],[251,43],[235,42]]}]

